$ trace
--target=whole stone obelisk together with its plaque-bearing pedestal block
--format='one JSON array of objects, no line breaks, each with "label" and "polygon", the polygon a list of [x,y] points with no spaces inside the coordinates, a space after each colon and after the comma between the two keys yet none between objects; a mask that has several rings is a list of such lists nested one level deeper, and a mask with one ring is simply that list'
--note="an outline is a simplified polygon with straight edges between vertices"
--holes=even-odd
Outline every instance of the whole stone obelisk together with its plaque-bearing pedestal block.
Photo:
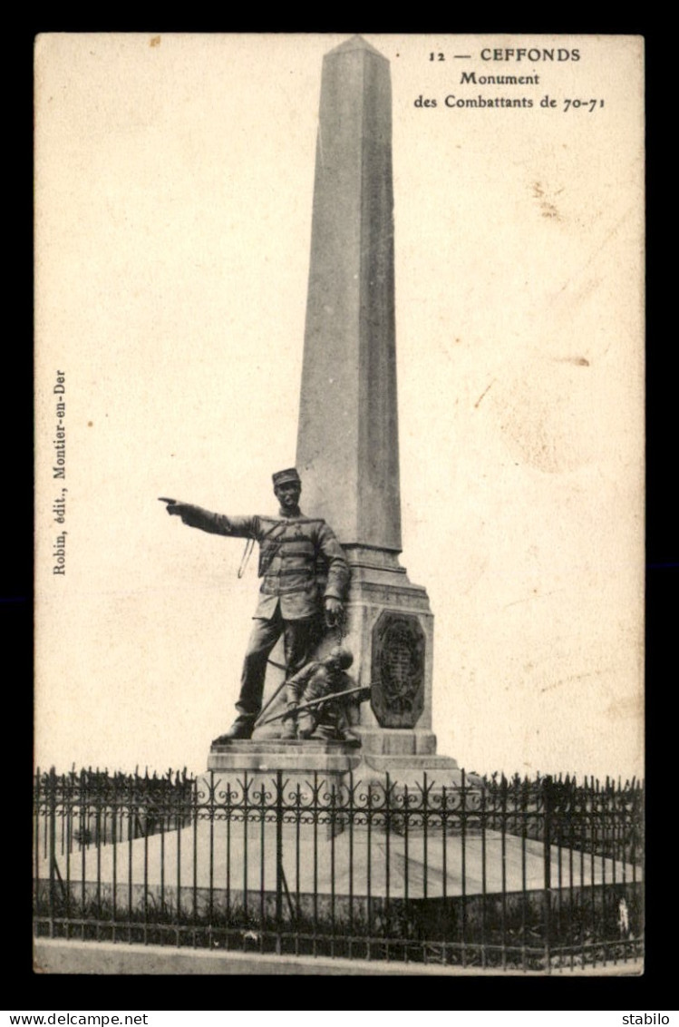
[{"label": "whole stone obelisk together with its plaque-bearing pedestal block", "polygon": [[296,465],[305,510],[328,521],[352,569],[369,768],[454,769],[434,755],[429,599],[398,560],[391,79],[360,36],[323,60]]}]

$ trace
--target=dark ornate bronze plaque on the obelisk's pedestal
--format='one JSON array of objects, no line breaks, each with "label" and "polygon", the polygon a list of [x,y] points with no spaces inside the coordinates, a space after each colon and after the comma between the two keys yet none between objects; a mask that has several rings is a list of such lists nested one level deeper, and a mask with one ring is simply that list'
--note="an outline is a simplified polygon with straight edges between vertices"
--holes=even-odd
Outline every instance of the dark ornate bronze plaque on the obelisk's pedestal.
[{"label": "dark ornate bronze plaque on the obelisk's pedestal", "polygon": [[381,727],[414,727],[425,707],[425,633],[408,613],[380,614],[372,629],[370,706]]}]

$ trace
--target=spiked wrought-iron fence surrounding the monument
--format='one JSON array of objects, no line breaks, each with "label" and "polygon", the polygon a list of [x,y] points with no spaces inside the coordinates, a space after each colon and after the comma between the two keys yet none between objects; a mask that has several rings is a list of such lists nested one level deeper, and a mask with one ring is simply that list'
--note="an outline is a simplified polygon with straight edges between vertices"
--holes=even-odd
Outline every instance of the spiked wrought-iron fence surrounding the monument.
[{"label": "spiked wrought-iron fence surrounding the monument", "polygon": [[643,787],[38,771],[38,936],[544,971],[641,956]]}]

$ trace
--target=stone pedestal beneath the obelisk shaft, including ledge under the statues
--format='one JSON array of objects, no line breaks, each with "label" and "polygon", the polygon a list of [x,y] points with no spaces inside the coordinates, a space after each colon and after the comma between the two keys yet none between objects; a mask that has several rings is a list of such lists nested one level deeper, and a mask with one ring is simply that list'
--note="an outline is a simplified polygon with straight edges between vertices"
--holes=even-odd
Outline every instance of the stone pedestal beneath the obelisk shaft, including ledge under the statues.
[{"label": "stone pedestal beneath the obelisk shaft, including ledge under the statues", "polygon": [[[315,774],[338,787],[351,771],[366,785],[384,787],[389,774],[398,787],[414,788],[425,773],[436,788],[457,785],[457,762],[437,755],[432,730],[434,615],[427,591],[409,580],[395,551],[368,545],[346,545],[345,551],[352,577],[344,641],[354,654],[352,676],[370,687],[352,728],[359,740],[286,740],[255,732],[250,739],[212,746],[207,769],[225,779],[247,772],[255,788],[270,785],[277,770],[293,789]],[[316,656],[335,644],[330,633]]]}]

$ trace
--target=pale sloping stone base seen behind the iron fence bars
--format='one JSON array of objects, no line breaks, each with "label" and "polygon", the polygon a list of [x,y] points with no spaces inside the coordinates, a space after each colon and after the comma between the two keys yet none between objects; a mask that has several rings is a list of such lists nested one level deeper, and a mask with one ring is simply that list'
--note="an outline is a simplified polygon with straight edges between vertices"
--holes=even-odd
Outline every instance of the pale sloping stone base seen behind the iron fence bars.
[{"label": "pale sloping stone base seen behind the iron fence bars", "polygon": [[[77,859],[76,853],[62,852],[61,845],[57,845],[56,866],[65,886],[71,888],[73,908],[76,909],[82,902],[82,882],[85,881],[89,882],[87,895],[93,901],[99,901],[97,896],[108,892],[111,897],[115,893],[119,910],[130,906],[139,910],[149,908],[150,897],[158,907],[163,902],[176,903],[179,892],[185,911],[195,908],[193,904],[198,903],[205,915],[208,909],[225,910],[225,888],[230,879],[231,908],[238,907],[246,891],[250,896],[250,910],[256,917],[262,909],[262,895],[268,896],[270,903],[271,899],[275,899],[278,825],[275,816],[266,817],[263,823],[256,812],[256,798],[252,792],[250,795],[253,799],[252,817],[234,816],[229,822],[229,833],[225,830],[225,820],[210,816],[209,799],[206,797],[201,800],[206,815],[199,816],[194,824],[178,831],[172,829],[101,847],[85,846],[77,853]],[[224,806],[225,800],[217,797],[217,802]],[[389,897],[391,902],[465,896],[465,903],[470,896],[478,895],[485,899],[492,892],[500,897],[503,891],[510,896],[513,891],[534,889],[544,895],[543,840],[503,835],[492,830],[486,831],[483,836],[468,830],[463,841],[458,831],[450,830],[446,832],[445,839],[439,834],[434,844],[431,832],[425,837],[413,826],[407,837],[402,831],[394,831],[388,836],[388,862],[387,836],[376,824],[371,829],[369,840],[367,824],[362,829],[355,825],[353,831],[346,829],[341,834],[326,829],[327,825],[314,823],[312,816],[303,816],[297,824],[292,815],[290,821],[283,823],[283,869],[287,883],[294,898],[297,890],[304,897],[302,908],[306,907],[312,916],[314,902],[320,902],[321,896],[328,897],[331,902],[336,901],[334,908],[343,910],[345,922],[350,911],[362,916],[364,922],[366,905],[361,897],[368,895],[372,899]],[[36,853],[36,859],[39,886],[48,902],[49,855],[40,852]],[[628,887],[634,886],[631,882],[636,880],[636,887],[639,887],[641,874],[638,867],[613,863],[600,855],[592,860],[589,853],[581,854],[576,849],[552,845],[552,885],[556,891],[561,883],[566,903],[569,864],[573,868],[572,883],[576,888],[604,882],[610,885],[613,880],[627,881]],[[69,866],[70,885],[67,883]],[[325,909],[328,909],[327,905]],[[479,910],[474,917],[477,924],[481,916]],[[224,923],[224,919],[221,918],[219,922]],[[91,942],[88,944],[92,945]],[[92,945],[92,948],[95,947]]]}]

